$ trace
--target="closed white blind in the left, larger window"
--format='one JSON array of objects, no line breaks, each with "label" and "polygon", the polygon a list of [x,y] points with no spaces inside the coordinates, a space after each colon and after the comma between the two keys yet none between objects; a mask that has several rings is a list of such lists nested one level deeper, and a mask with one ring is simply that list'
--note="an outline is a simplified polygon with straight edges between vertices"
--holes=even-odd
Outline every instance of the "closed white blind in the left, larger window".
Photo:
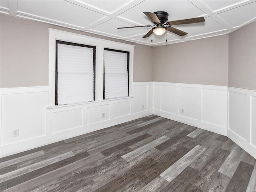
[{"label": "closed white blind in the left, larger window", "polygon": [[58,105],[94,100],[93,48],[58,43]]}]

